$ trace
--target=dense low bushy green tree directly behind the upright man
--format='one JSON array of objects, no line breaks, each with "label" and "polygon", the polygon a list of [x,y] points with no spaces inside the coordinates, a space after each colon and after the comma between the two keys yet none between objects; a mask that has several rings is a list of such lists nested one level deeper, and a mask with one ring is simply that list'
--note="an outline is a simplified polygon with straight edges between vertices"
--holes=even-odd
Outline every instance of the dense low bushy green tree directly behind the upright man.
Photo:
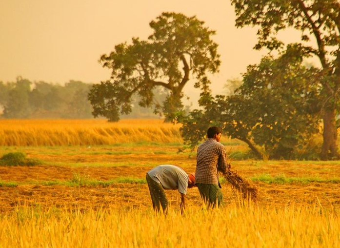
[{"label": "dense low bushy green tree directly behind the upright man", "polygon": [[319,78],[315,68],[305,68],[302,59],[294,57],[295,49],[248,66],[232,96],[202,94],[203,109],[179,118],[185,144],[194,147],[209,126],[217,125],[226,135],[249,145],[258,158],[266,155],[257,146],[271,159],[296,158],[298,145],[318,132]]}]

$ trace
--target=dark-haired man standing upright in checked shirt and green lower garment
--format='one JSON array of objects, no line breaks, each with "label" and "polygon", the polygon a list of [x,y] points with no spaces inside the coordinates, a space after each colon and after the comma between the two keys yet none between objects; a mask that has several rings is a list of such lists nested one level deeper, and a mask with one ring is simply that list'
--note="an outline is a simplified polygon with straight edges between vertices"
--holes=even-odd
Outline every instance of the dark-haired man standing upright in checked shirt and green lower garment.
[{"label": "dark-haired man standing upright in checked shirt and green lower garment", "polygon": [[226,173],[229,169],[224,145],[220,144],[221,129],[211,126],[207,131],[208,139],[197,149],[195,184],[200,190],[203,202],[210,207],[220,207],[222,191],[218,179],[218,170]]}]

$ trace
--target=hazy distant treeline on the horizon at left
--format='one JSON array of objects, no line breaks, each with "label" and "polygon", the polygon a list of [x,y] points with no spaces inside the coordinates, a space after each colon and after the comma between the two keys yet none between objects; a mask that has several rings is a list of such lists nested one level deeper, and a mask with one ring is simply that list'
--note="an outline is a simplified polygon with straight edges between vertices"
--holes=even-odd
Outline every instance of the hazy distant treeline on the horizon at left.
[{"label": "hazy distant treeline on the horizon at left", "polygon": [[[21,77],[18,77],[16,82],[0,81],[0,118],[93,118],[92,106],[87,99],[92,85],[93,83],[73,80],[64,85],[42,81],[33,83]],[[152,109],[140,107],[136,103],[128,118],[158,118],[158,116]]]}]

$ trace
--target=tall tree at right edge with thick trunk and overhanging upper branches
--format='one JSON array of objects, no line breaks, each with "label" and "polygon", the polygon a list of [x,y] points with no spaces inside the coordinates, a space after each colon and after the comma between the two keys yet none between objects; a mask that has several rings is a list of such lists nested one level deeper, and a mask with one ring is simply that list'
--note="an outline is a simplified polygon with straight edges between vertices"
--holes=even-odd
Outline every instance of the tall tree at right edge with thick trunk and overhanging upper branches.
[{"label": "tall tree at right edge with thick trunk and overhanging upper branches", "polygon": [[[323,74],[318,111],[323,120],[321,159],[339,158],[337,122],[340,91],[340,2],[339,0],[231,0],[236,26],[257,26],[256,49],[283,49],[278,32],[288,27],[301,32],[295,45],[304,57],[316,56]],[[308,41],[316,41],[310,45]]]}]

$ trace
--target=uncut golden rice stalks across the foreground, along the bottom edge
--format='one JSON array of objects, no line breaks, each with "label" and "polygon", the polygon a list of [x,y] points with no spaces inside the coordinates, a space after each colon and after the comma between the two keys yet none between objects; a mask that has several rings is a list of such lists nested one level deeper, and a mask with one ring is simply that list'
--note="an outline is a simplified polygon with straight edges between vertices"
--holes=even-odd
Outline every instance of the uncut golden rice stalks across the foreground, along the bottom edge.
[{"label": "uncut golden rice stalks across the foreground, along the bottom edge", "polygon": [[85,213],[24,207],[0,216],[0,247],[339,247],[339,209],[237,207],[185,216],[151,209]]}]

